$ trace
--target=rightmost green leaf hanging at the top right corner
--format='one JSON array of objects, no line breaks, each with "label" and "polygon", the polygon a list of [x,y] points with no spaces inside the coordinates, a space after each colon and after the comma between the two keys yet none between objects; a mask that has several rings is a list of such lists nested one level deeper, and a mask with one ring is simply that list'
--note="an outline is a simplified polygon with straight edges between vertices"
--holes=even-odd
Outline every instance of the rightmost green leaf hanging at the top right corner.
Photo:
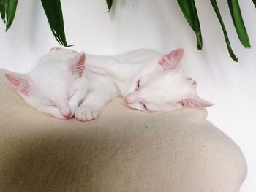
[{"label": "rightmost green leaf hanging at the top right corner", "polygon": [[240,42],[244,45],[244,47],[250,48],[251,45],[249,43],[249,37],[246,28],[244,26],[244,21],[241,15],[238,0],[227,0],[227,3],[228,7],[230,8],[230,14],[232,16],[232,20],[236,28],[236,33],[238,34]]}]

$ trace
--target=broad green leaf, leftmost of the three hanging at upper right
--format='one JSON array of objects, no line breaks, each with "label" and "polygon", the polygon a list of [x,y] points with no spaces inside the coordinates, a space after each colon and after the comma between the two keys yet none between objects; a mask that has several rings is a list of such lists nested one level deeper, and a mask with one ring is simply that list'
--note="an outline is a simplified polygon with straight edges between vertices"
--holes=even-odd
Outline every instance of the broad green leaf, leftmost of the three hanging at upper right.
[{"label": "broad green leaf, leftmost of the three hanging at upper right", "polygon": [[197,15],[197,9],[195,7],[195,1],[194,0],[177,0],[179,7],[181,7],[181,11],[183,12],[183,15],[187,19],[187,22],[189,23],[189,26],[193,29],[195,32],[195,35],[197,37],[197,49],[201,50],[203,47],[203,40],[202,40],[202,34],[200,29],[200,22]]}]

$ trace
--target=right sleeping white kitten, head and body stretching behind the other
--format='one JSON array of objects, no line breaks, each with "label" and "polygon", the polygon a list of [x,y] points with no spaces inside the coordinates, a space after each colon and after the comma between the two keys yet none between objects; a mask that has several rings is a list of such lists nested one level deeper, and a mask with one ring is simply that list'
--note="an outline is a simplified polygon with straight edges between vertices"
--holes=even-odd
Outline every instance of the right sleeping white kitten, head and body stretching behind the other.
[{"label": "right sleeping white kitten, head and body stretching behind the other", "polygon": [[87,55],[87,69],[109,77],[128,107],[160,112],[181,107],[203,108],[212,104],[197,96],[195,80],[178,69],[183,49],[162,55],[153,50],[135,50],[114,57]]}]

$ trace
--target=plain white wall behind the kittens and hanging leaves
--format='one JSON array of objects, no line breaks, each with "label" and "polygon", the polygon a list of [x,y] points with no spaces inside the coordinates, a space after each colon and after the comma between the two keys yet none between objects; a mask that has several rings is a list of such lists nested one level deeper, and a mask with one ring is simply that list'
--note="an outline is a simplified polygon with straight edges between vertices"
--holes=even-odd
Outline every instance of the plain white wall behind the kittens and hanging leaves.
[{"label": "plain white wall behind the kittens and hanging leaves", "polygon": [[[233,138],[249,166],[242,192],[256,191],[256,9],[252,1],[240,1],[252,44],[245,50],[238,41],[226,1],[218,1],[234,52],[228,53],[210,1],[197,0],[203,31],[203,50],[198,51],[176,1],[115,1],[107,12],[105,0],[62,0],[67,42],[86,53],[113,54],[137,48],[167,53],[184,47],[184,72],[197,80],[198,92],[215,105],[208,120]],[[59,46],[50,32],[40,1],[18,2],[12,27],[0,23],[0,68],[29,72],[50,47]]]}]

